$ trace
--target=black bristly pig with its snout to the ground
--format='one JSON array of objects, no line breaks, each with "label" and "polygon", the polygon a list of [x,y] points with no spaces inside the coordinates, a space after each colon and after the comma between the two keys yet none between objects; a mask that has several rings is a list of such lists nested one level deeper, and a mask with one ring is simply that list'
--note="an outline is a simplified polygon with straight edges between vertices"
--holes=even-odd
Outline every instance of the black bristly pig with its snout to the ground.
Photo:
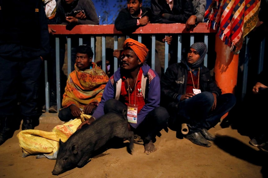
[{"label": "black bristly pig with its snout to the ground", "polygon": [[59,141],[59,150],[53,175],[59,175],[75,167],[83,167],[92,153],[113,137],[130,139],[129,152],[132,154],[134,133],[127,128],[126,110],[123,115],[107,113],[90,125],[84,125],[64,143]]}]

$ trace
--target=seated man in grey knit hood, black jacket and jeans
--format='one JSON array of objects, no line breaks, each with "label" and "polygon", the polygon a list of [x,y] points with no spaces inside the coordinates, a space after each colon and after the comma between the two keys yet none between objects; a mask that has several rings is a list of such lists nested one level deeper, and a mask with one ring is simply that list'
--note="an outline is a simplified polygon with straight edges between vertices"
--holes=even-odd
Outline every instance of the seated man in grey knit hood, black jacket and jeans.
[{"label": "seated man in grey knit hood, black jacket and jeans", "polygon": [[169,111],[169,128],[196,145],[210,147],[215,136],[208,130],[220,122],[236,102],[232,93],[222,94],[203,65],[206,44],[194,43],[186,60],[170,65],[161,79],[161,103]]}]

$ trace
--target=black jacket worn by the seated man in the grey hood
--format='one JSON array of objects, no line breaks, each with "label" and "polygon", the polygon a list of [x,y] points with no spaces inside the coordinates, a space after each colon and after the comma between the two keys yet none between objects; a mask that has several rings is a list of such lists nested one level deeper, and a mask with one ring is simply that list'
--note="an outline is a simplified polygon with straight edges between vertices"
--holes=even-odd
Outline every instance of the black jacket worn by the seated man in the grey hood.
[{"label": "black jacket worn by the seated man in the grey hood", "polygon": [[[161,105],[172,109],[178,105],[178,95],[186,94],[188,71],[184,61],[170,65],[161,79]],[[210,76],[210,71],[204,65],[200,66],[200,89],[221,94],[221,89]]]}]

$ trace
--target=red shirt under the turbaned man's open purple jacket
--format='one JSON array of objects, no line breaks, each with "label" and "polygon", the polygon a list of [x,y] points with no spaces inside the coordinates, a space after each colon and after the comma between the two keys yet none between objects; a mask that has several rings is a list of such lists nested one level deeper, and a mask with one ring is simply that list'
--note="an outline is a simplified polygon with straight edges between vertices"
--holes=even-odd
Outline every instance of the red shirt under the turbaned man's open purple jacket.
[{"label": "red shirt under the turbaned man's open purple jacket", "polygon": [[138,113],[141,111],[143,106],[145,105],[143,93],[141,92],[141,77],[142,77],[142,70],[140,68],[139,76],[137,78],[137,83],[135,89],[132,91],[132,93],[129,93],[126,90],[127,86],[127,79],[125,76],[122,78],[122,85],[121,85],[121,92],[120,92],[120,98],[119,101],[124,102],[127,104],[135,104],[138,105]]}]

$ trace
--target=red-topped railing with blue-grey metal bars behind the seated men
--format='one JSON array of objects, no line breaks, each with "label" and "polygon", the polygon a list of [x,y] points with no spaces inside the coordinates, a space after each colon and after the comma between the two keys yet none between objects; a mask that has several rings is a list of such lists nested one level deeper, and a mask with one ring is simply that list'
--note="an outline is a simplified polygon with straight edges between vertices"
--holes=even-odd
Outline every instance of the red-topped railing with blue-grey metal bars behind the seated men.
[{"label": "red-topped railing with blue-grey metal bars behind the seated men", "polygon": [[[71,42],[72,42],[72,36],[78,36],[79,37],[79,45],[83,44],[83,35],[90,35],[90,42],[91,42],[91,48],[93,49],[94,56],[96,56],[96,46],[95,46],[95,39],[96,37],[101,37],[101,46],[98,46],[98,48],[101,48],[101,60],[102,60],[102,68],[106,72],[105,67],[105,60],[106,60],[106,40],[107,37],[113,37],[113,48],[119,49],[118,46],[118,38],[125,37],[128,38],[128,36],[123,35],[120,31],[117,31],[114,27],[114,25],[77,25],[72,30],[67,30],[66,25],[49,25],[51,28],[56,30],[56,80],[57,80],[57,108],[58,111],[61,108],[61,96],[60,96],[60,37],[64,36],[67,37],[67,74],[71,73]],[[206,43],[208,46],[208,50],[210,48],[215,49],[215,44],[208,45],[209,38],[215,37],[216,31],[213,29],[210,29],[206,26],[206,23],[200,23],[194,28],[192,31],[186,31],[185,30],[185,24],[148,24],[144,27],[138,28],[133,34],[138,35],[138,41],[141,42],[142,37],[144,35],[150,35],[152,39],[152,51],[155,50],[155,44],[156,39],[155,35],[157,34],[163,34],[163,35],[178,35],[178,62],[181,60],[182,56],[182,37],[183,35],[187,35],[189,37],[190,45],[195,42],[195,37],[200,36],[202,34],[204,36],[203,42]],[[215,41],[214,41],[215,43]],[[169,61],[169,45],[165,42],[164,44],[164,71],[168,67],[168,61]],[[215,59],[211,59],[215,60]],[[93,60],[94,61],[94,60]],[[155,54],[152,53],[152,64],[151,68],[155,69]],[[204,65],[208,65],[208,55],[206,55],[204,59]],[[117,70],[118,67],[118,60],[114,58],[114,71]],[[45,93],[46,93],[46,111],[49,109],[49,82],[48,82],[48,66],[47,62],[45,61]],[[244,70],[244,72],[247,72]],[[247,77],[247,75],[244,75],[244,77]],[[245,79],[243,81],[246,81]],[[246,83],[243,84],[243,89],[246,88]],[[244,92],[244,91],[242,91]]]}]

